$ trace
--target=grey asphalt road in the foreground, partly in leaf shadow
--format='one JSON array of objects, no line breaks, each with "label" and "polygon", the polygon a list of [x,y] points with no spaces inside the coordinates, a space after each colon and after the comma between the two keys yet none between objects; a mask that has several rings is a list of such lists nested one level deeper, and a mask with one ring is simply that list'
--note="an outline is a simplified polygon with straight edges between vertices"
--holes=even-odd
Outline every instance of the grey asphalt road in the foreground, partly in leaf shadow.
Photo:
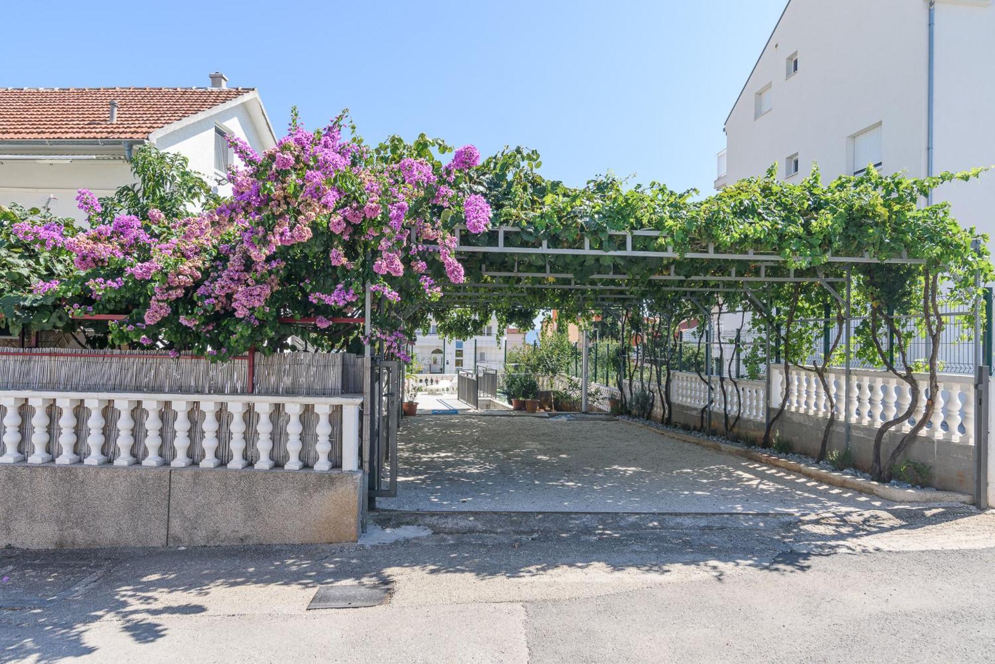
[{"label": "grey asphalt road in the foreground, partly in leaf shadow", "polygon": [[[990,662],[995,513],[379,513],[349,546],[0,552],[0,662]],[[306,610],[318,586],[384,605]]]}]

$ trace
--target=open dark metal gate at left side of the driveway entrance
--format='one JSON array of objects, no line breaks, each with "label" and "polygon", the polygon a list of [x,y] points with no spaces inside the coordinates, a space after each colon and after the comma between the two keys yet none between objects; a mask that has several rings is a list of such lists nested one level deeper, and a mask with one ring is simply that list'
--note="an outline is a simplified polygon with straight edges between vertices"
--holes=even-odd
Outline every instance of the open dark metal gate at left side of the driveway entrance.
[{"label": "open dark metal gate at left side of the driveway entrance", "polygon": [[370,363],[369,496],[397,495],[397,430],[401,423],[404,366],[397,360]]}]

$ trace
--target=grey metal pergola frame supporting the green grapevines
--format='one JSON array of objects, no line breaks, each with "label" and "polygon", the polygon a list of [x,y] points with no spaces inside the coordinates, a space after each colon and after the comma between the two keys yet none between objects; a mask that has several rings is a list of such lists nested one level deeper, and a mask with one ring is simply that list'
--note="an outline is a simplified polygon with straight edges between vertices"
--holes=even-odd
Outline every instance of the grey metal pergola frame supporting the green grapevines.
[{"label": "grey metal pergola frame supporting the green grapevines", "polygon": [[[769,307],[764,305],[764,301],[769,303],[769,296],[766,292],[757,292],[752,284],[763,284],[764,290],[769,290],[769,285],[773,283],[794,283],[794,282],[817,282],[820,283],[826,290],[836,299],[840,304],[843,305],[845,309],[845,341],[844,341],[844,353],[845,353],[845,386],[844,386],[844,422],[845,422],[845,444],[847,447],[850,446],[851,442],[851,422],[849,417],[850,408],[850,391],[851,391],[851,375],[852,375],[852,355],[853,355],[853,339],[852,339],[852,267],[857,264],[866,263],[889,263],[889,264],[923,264],[925,260],[921,258],[910,258],[907,254],[902,251],[899,257],[889,258],[889,259],[879,259],[873,258],[868,252],[860,256],[837,256],[829,255],[826,257],[825,263],[820,263],[819,265],[796,268],[789,264],[787,268],[787,275],[777,275],[768,276],[766,274],[767,267],[783,267],[783,263],[793,262],[792,258],[785,257],[780,254],[771,253],[756,253],[752,250],[748,250],[746,253],[726,253],[716,251],[713,244],[708,244],[705,251],[689,251],[686,253],[681,253],[675,251],[673,246],[669,246],[666,250],[642,250],[633,249],[633,239],[634,238],[659,238],[663,236],[661,231],[653,230],[640,230],[640,231],[610,231],[608,232],[609,238],[623,238],[625,249],[599,249],[591,247],[591,239],[587,236],[583,238],[583,246],[577,248],[558,248],[549,247],[548,240],[542,239],[538,242],[539,247],[509,247],[505,244],[505,239],[509,233],[520,233],[521,229],[514,227],[502,226],[492,231],[497,232],[497,246],[482,246],[482,245],[468,245],[464,243],[464,234],[462,231],[464,228],[458,228],[456,230],[457,246],[454,252],[457,254],[477,254],[480,256],[485,256],[489,254],[502,254],[505,256],[516,256],[523,254],[530,255],[545,255],[545,271],[519,271],[517,260],[515,260],[514,270],[489,270],[486,263],[482,264],[482,273],[485,277],[494,277],[497,279],[509,279],[512,282],[507,281],[497,281],[497,282],[483,282],[476,281],[464,284],[463,287],[458,289],[450,289],[444,291],[442,301],[434,302],[429,305],[430,308],[448,308],[453,305],[490,305],[495,304],[500,301],[506,301],[510,298],[520,296],[524,294],[522,290],[531,289],[554,289],[554,290],[576,290],[584,291],[583,293],[578,293],[579,297],[584,299],[581,300],[585,305],[591,308],[605,308],[605,307],[617,307],[624,306],[626,304],[631,304],[634,301],[642,301],[645,299],[641,295],[636,294],[626,294],[632,289],[625,285],[609,285],[607,283],[602,283],[605,281],[616,281],[619,280],[629,280],[631,277],[628,274],[618,274],[610,273],[596,273],[590,276],[578,276],[570,272],[554,272],[552,265],[550,265],[549,258],[555,256],[598,256],[598,257],[611,257],[611,258],[658,258],[658,259],[672,259],[670,265],[670,273],[654,274],[648,278],[643,277],[643,280],[648,281],[661,281],[661,282],[682,282],[687,285],[661,285],[658,288],[654,288],[656,291],[678,291],[686,292],[689,295],[693,293],[700,292],[745,292],[747,297],[753,302],[754,306],[759,307],[762,313],[765,313],[765,318],[768,320],[768,333],[766,335],[766,344],[768,347],[768,352],[766,353],[766,405],[765,405],[765,421],[769,423],[770,421],[770,376],[771,376],[771,363],[770,363],[770,333],[769,333],[769,320],[770,312]],[[676,273],[676,262],[680,261],[682,263],[695,263],[703,261],[728,261],[730,263],[730,269],[728,274],[697,274],[693,276],[683,276]],[[759,267],[759,274],[756,275],[737,275],[736,266],[742,261],[748,261]],[[823,273],[823,269],[829,265],[832,265],[835,269],[844,269],[844,276],[826,276]],[[796,275],[796,271],[808,271],[816,270],[815,275]],[[535,283],[534,279],[544,279],[544,283]],[[523,282],[522,280],[527,280]],[[568,280],[568,283],[549,283],[549,280]],[[840,293],[837,286],[842,284],[843,293]],[[980,285],[980,283],[979,283]],[[476,290],[470,290],[476,289]],[[701,305],[698,305],[699,307]],[[367,286],[366,292],[366,321],[369,321],[370,314],[370,292]],[[706,314],[708,319],[708,326],[706,333],[709,335],[709,339],[712,336],[712,314],[702,308],[702,311]],[[979,399],[980,408],[975,409],[975,453],[976,453],[976,504],[979,507],[984,507],[987,504],[987,496],[984,487],[987,486],[987,367],[982,364],[982,350],[981,350],[981,331],[980,331],[980,297],[975,297],[974,307],[974,320],[975,320],[975,396]],[[369,323],[367,322],[367,334],[369,333]],[[587,358],[588,358],[588,338],[586,331],[582,337],[582,352],[583,352],[583,366],[584,369],[581,374],[581,409],[582,411],[587,411],[587,389],[588,389],[588,371],[587,371]],[[706,367],[709,393],[713,388],[711,387],[711,367],[710,363]],[[709,399],[711,396],[709,394]],[[710,415],[710,412],[709,412]]]}]

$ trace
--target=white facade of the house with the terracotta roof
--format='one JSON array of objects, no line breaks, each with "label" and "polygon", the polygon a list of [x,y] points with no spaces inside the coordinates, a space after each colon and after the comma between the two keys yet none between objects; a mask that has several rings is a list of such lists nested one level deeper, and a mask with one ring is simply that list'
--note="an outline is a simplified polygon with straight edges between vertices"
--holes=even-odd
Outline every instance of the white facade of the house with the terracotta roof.
[{"label": "white facade of the house with the terracotta roof", "polygon": [[183,154],[191,170],[217,185],[219,194],[228,195],[231,186],[224,180],[224,173],[215,169],[216,127],[234,133],[259,151],[276,143],[255,90],[167,124],[145,140],[0,142],[0,155],[6,155],[0,156],[0,205],[49,205],[58,216],[82,220],[85,216],[77,208],[77,190],[89,189],[98,196],[107,196],[133,182],[127,148],[137,149],[142,143]]}]

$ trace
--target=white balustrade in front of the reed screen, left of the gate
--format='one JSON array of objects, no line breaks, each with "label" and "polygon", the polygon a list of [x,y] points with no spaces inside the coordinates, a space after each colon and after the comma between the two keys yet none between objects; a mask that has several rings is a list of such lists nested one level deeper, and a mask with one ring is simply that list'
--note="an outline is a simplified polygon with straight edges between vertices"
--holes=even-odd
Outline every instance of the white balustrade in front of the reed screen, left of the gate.
[{"label": "white balustrade in front of the reed screen, left of the gate", "polygon": [[359,467],[360,396],[0,391],[0,463]]}]

